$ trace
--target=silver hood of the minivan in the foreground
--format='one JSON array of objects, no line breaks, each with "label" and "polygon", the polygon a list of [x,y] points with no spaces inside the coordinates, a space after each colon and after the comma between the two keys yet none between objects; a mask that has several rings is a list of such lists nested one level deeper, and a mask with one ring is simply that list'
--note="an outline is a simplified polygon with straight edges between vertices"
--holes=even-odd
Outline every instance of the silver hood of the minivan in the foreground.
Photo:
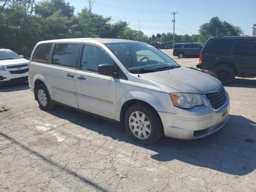
[{"label": "silver hood of the minivan in the foreground", "polygon": [[220,80],[198,70],[180,67],[171,70],[140,74],[152,82],[163,84],[182,93],[203,94],[221,85]]}]

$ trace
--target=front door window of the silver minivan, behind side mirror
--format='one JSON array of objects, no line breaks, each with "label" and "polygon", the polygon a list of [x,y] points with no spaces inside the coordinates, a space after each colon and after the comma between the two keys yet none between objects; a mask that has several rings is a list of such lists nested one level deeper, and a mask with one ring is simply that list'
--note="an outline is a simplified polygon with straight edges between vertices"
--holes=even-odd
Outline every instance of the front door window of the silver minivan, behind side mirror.
[{"label": "front door window of the silver minivan, behind side mirror", "polygon": [[100,48],[92,45],[84,45],[81,69],[98,72],[98,66],[100,64],[113,65],[113,61]]}]

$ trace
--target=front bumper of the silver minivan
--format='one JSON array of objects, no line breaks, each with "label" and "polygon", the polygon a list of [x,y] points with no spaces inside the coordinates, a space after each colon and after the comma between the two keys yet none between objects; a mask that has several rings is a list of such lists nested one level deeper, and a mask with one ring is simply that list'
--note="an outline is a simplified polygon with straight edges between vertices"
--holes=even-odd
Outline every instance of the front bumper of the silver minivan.
[{"label": "front bumper of the silver minivan", "polygon": [[176,109],[176,114],[158,112],[166,137],[178,139],[196,139],[210,135],[222,128],[229,119],[230,101],[226,93],[225,106],[214,111],[207,98],[203,97],[204,105],[186,110]]}]

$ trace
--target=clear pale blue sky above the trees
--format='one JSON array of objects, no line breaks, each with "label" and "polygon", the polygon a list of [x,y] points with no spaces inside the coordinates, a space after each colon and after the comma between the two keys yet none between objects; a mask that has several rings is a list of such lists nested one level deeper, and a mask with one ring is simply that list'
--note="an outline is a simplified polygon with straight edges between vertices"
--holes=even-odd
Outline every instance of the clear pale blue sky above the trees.
[{"label": "clear pale blue sky above the trees", "polygon": [[[88,8],[87,0],[66,2],[75,7],[76,14]],[[138,30],[140,25],[140,30],[148,36],[173,32],[173,12],[178,12],[175,33],[182,35],[198,34],[200,25],[214,16],[240,26],[249,36],[256,24],[256,0],[95,0],[92,12],[112,16],[112,23],[127,21],[132,29]]]}]

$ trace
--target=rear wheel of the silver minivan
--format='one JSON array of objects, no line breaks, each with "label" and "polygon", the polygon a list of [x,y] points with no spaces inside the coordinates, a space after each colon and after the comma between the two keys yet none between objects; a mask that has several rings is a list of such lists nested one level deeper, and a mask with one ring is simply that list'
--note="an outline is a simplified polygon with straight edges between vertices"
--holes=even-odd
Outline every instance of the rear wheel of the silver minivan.
[{"label": "rear wheel of the silver minivan", "polygon": [[[38,92],[39,92],[39,95],[38,95]],[[40,84],[36,87],[36,100],[40,108],[43,110],[51,110],[55,106],[44,84]]]}]

